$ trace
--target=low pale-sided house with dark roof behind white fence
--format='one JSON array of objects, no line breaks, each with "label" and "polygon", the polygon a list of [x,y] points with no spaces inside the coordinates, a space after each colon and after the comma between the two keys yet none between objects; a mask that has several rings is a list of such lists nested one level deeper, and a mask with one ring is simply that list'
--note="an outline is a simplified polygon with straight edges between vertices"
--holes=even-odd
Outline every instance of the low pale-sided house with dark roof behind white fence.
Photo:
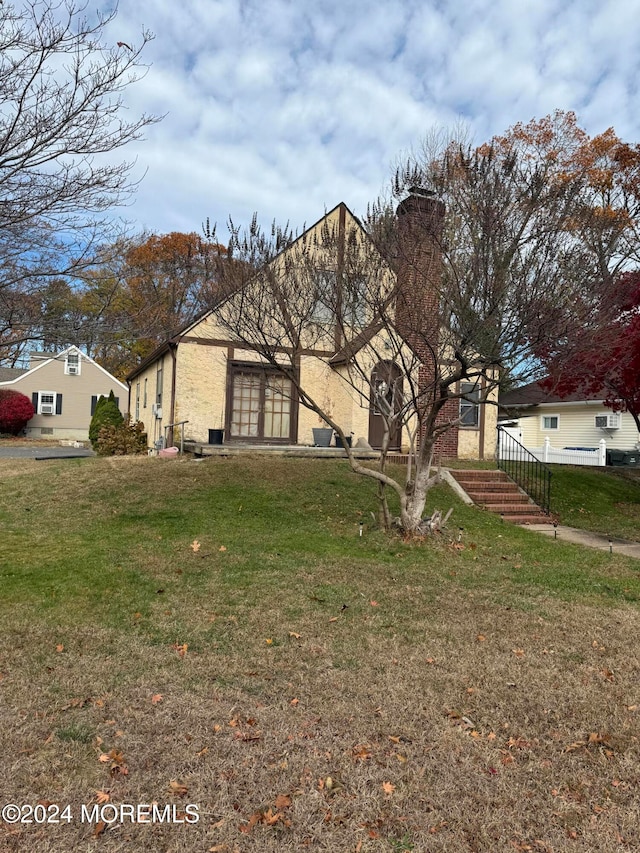
[{"label": "low pale-sided house with dark roof behind white fence", "polygon": [[628,412],[613,412],[604,393],[559,396],[539,382],[500,395],[500,413],[525,447],[593,448],[601,439],[608,450],[632,450],[640,434]]}]

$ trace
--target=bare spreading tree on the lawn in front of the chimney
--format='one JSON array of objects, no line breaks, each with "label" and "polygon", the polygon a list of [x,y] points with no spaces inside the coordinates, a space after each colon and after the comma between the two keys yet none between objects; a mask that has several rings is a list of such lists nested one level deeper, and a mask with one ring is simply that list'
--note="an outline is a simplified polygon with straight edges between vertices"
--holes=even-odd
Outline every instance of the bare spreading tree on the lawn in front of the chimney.
[{"label": "bare spreading tree on the lawn in front of the chimney", "polygon": [[[378,482],[387,525],[391,488],[399,525],[429,529],[427,494],[447,435],[495,402],[500,385],[536,374],[536,351],[558,331],[549,307],[570,304],[597,276],[575,228],[584,171],[558,176],[552,156],[529,156],[517,137],[475,149],[452,143],[399,169],[397,209],[377,203],[362,227],[342,220],[296,236],[264,232],[255,218],[247,231],[231,224],[235,263],[220,272],[217,320],[338,433],[353,470]],[[379,413],[375,468],[356,458],[314,396],[310,358]],[[388,467],[398,430],[410,455],[402,480]]]}]

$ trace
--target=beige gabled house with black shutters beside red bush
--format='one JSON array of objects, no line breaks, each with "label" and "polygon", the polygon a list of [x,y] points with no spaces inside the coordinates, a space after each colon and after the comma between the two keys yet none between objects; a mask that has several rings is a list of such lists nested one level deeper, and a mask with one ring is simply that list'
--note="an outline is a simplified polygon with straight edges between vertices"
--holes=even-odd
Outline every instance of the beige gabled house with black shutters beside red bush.
[{"label": "beige gabled house with black shutters beside red bush", "polygon": [[111,391],[122,413],[127,411],[128,387],[76,346],[31,353],[28,370],[3,368],[0,388],[19,391],[33,403],[36,413],[25,430],[29,438],[86,441],[95,404]]}]

